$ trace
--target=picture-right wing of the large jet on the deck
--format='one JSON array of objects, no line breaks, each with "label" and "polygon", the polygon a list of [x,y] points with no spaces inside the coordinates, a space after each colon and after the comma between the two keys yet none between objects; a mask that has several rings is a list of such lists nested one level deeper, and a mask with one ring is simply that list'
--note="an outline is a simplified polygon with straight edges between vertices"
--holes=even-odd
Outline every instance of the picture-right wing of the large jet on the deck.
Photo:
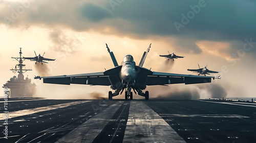
[{"label": "picture-right wing of the large jet on the deck", "polygon": [[146,85],[210,83],[212,78],[214,79],[215,77],[160,73],[153,71],[151,76],[147,76]]}]

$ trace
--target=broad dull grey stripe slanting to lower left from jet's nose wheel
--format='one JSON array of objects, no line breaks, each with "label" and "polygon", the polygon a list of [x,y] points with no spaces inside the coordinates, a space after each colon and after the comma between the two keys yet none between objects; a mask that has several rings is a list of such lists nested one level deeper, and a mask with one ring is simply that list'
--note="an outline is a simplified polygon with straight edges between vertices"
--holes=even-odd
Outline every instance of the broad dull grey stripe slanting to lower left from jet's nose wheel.
[{"label": "broad dull grey stripe slanting to lower left from jet's nose wheel", "polygon": [[94,138],[104,129],[106,124],[109,123],[112,116],[119,109],[122,103],[123,101],[119,101],[111,105],[56,142],[92,142]]}]

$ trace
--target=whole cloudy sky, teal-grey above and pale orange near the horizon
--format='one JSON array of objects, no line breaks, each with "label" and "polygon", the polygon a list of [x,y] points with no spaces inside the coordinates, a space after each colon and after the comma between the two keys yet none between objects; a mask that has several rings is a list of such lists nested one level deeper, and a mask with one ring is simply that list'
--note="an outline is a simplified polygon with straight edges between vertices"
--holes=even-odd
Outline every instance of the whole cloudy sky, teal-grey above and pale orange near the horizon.
[{"label": "whole cloudy sky, teal-grey above and pale orange near the horizon", "polygon": [[[0,1],[0,82],[15,76],[9,69],[16,62],[19,47],[23,56],[46,52],[56,58],[39,67],[25,61],[25,76],[69,75],[104,71],[113,67],[105,48],[108,43],[118,63],[126,54],[139,63],[152,43],[144,67],[153,71],[193,74],[187,68],[207,66],[222,77],[210,84],[212,90],[228,97],[256,97],[256,2],[255,1]],[[183,59],[168,63],[159,55],[175,52]],[[37,84],[36,97],[90,99],[107,97],[110,87]],[[202,85],[148,87],[163,94],[182,96],[183,91],[198,98],[214,97]],[[167,92],[167,93],[166,93]],[[185,93],[184,93],[185,94]],[[218,94],[215,93],[215,94]],[[223,94],[223,93],[222,93]],[[193,95],[192,95],[193,96]],[[216,97],[216,96],[215,96]],[[217,96],[218,97],[218,96]],[[122,98],[123,96],[119,96]]]}]

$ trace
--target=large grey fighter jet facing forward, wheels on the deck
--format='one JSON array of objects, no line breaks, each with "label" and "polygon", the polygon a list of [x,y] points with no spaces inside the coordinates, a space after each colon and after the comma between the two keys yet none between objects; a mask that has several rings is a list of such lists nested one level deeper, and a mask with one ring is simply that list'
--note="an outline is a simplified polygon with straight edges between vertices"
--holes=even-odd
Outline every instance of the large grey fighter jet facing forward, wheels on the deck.
[{"label": "large grey fighter jet facing forward, wheels on the deck", "polygon": [[125,99],[133,99],[133,92],[145,97],[146,100],[149,98],[148,91],[143,92],[148,85],[166,85],[166,84],[197,84],[197,83],[210,83],[211,79],[215,77],[204,77],[194,75],[182,75],[172,73],[159,73],[151,71],[150,69],[142,67],[146,59],[147,53],[150,51],[150,46],[147,51],[144,52],[139,65],[136,65],[132,55],[125,55],[121,65],[118,65],[113,52],[110,51],[108,45],[106,48],[110,53],[111,59],[114,63],[114,68],[105,70],[99,73],[90,74],[78,74],[78,75],[63,75],[63,76],[51,76],[51,77],[40,77],[37,76],[35,79],[44,79],[44,83],[52,84],[87,84],[87,85],[105,85],[110,86],[111,89],[115,90],[114,93],[109,91],[109,99],[112,97],[122,94],[125,90]]}]

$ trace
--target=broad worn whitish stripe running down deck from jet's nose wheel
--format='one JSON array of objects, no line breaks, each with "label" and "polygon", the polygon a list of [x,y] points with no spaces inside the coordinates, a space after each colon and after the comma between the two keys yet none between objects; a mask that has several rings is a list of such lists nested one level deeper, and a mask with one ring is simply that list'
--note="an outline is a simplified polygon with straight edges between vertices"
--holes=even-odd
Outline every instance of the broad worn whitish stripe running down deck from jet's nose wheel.
[{"label": "broad worn whitish stripe running down deck from jet's nose wheel", "polygon": [[185,142],[161,116],[140,101],[131,101],[123,142]]}]

